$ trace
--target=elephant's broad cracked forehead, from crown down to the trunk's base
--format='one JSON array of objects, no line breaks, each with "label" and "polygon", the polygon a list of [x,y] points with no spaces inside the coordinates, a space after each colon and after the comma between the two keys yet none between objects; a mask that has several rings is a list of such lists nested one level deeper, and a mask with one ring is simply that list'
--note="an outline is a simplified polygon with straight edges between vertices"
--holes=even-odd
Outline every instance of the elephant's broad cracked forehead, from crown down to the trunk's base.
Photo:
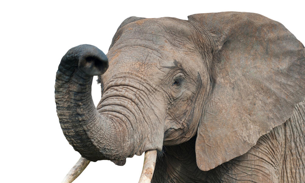
[{"label": "elephant's broad cracked forehead, from crown down to the trunk's base", "polygon": [[193,35],[185,20],[160,18],[129,23],[114,36],[105,74],[131,71],[161,78],[177,66],[177,61],[185,62],[198,53]]}]

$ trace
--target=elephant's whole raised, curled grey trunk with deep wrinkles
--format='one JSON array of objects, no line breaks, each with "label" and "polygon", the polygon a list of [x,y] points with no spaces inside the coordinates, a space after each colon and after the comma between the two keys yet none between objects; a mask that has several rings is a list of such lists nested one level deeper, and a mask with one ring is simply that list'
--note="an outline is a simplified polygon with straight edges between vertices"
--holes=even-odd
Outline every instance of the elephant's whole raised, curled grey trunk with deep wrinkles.
[{"label": "elephant's whole raised, curled grey trunk with deep wrinkles", "polygon": [[163,127],[157,125],[160,121],[144,96],[149,91],[141,91],[145,87],[138,79],[116,73],[95,108],[93,75],[102,75],[107,68],[106,55],[92,45],[71,48],[63,56],[56,73],[55,102],[66,139],[90,161],[124,160],[161,150]]}]

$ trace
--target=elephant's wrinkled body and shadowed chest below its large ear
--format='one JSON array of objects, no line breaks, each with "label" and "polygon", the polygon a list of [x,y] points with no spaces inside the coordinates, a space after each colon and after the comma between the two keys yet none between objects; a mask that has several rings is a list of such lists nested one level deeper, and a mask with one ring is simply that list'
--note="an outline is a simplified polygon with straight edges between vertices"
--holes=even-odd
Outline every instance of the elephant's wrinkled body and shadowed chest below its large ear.
[{"label": "elephant's wrinkled body and shadowed chest below its large ear", "polygon": [[193,137],[164,147],[152,182],[305,182],[305,101],[295,107],[289,120],[261,136],[248,152],[212,170],[197,167],[195,142]]}]

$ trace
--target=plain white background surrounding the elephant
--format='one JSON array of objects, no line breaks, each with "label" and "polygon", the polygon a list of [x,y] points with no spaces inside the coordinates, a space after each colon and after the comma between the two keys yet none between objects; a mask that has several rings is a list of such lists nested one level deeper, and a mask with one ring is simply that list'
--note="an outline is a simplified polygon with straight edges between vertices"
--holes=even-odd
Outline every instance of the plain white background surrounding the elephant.
[{"label": "plain white background surrounding the elephant", "polygon": [[[61,182],[80,155],[66,141],[56,115],[55,74],[68,49],[108,51],[129,16],[187,19],[195,13],[244,11],[281,22],[305,43],[302,1],[2,1],[0,4],[0,182]],[[96,79],[96,78],[94,78]],[[93,82],[95,104],[100,86]],[[90,163],[75,182],[137,182],[144,156],[123,167]]]}]

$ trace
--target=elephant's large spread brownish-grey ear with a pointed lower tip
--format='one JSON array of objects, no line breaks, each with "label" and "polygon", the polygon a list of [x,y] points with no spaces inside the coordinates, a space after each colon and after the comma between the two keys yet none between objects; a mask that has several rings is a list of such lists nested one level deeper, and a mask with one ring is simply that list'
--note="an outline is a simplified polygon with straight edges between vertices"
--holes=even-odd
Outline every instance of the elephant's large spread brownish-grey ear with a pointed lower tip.
[{"label": "elephant's large spread brownish-grey ear with a pointed lower tip", "polygon": [[213,45],[212,89],[195,147],[197,165],[206,171],[246,153],[292,116],[305,95],[305,50],[281,23],[259,14],[188,19]]}]

